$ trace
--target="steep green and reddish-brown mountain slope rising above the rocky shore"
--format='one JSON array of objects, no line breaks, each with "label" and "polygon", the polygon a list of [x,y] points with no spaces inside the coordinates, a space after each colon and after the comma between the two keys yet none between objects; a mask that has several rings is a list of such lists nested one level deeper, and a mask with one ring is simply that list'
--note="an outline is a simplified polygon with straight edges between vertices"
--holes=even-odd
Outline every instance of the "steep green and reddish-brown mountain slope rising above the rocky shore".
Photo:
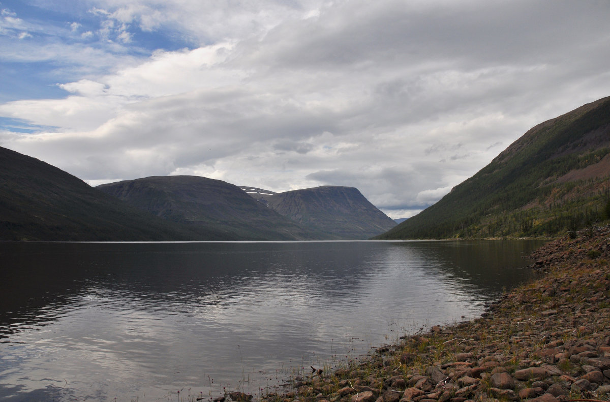
[{"label": "steep green and reddish-brown mountain slope rising above the rocky shore", "polygon": [[610,97],[540,123],[378,239],[556,236],[610,214]]}]

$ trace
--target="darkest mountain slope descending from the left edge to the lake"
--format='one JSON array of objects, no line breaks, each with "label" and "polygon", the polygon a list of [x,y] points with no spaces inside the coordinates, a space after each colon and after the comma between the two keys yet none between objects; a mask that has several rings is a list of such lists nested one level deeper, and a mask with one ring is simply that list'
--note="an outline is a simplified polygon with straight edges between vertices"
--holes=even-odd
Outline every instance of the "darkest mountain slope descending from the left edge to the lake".
[{"label": "darkest mountain slope descending from the left edge to the lake", "polygon": [[194,239],[195,233],[91,188],[30,156],[0,147],[0,240]]}]

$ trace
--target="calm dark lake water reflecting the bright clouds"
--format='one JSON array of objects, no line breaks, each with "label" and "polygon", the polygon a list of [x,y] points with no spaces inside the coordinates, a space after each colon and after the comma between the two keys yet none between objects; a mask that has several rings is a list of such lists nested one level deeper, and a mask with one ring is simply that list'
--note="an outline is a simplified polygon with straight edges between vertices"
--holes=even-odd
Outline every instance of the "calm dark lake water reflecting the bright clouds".
[{"label": "calm dark lake water reflecting the bright clouds", "polygon": [[257,394],[481,314],[541,244],[0,243],[0,400]]}]

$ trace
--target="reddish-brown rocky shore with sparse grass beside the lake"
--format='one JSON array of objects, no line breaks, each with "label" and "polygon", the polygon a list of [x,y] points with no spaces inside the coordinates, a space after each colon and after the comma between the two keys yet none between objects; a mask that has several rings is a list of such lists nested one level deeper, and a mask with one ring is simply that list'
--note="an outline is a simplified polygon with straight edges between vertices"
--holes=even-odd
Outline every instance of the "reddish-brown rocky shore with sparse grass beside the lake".
[{"label": "reddish-brown rocky shore with sparse grass beside the lake", "polygon": [[262,401],[610,401],[610,227],[552,241],[532,257],[544,276],[480,318],[314,371]]}]

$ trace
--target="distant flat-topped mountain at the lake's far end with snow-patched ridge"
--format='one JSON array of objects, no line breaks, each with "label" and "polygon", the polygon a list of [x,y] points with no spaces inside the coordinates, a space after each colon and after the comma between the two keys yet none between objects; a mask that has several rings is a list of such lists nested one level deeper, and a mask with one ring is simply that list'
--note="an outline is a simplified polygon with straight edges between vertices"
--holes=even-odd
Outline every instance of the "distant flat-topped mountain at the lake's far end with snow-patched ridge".
[{"label": "distant flat-topped mountain at the lake's far end with snow-patched ridge", "polygon": [[242,189],[249,189],[251,197],[303,227],[340,239],[368,239],[396,225],[353,187],[321,186],[281,193]]}]

